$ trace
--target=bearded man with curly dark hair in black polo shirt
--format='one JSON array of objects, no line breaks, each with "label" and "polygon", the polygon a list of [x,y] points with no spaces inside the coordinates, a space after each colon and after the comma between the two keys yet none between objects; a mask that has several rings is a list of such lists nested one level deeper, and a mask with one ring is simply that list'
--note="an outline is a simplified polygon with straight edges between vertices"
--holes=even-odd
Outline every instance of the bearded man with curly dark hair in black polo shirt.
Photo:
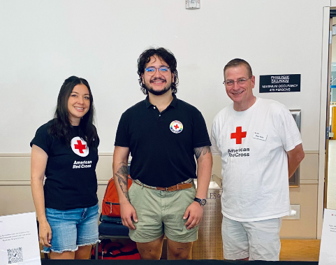
[{"label": "bearded man with curly dark hair in black polo shirt", "polygon": [[[164,235],[173,259],[191,259],[210,183],[205,120],[175,96],[176,67],[173,53],[164,48],[140,55],[139,83],[147,97],[122,114],[115,138],[113,176],[122,223],[142,259],[160,259]],[[128,192],[129,154],[133,184]]]}]

